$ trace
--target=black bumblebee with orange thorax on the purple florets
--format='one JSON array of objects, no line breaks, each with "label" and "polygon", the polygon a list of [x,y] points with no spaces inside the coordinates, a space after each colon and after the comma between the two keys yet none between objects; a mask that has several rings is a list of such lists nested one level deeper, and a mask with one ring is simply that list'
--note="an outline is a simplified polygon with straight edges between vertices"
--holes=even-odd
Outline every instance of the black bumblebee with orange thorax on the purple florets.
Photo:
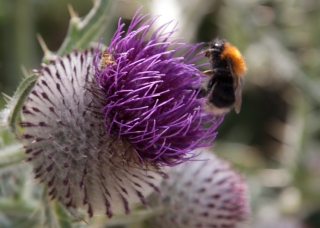
[{"label": "black bumblebee with orange thorax on the purple florets", "polygon": [[209,43],[204,54],[212,65],[212,70],[202,72],[208,76],[208,82],[201,88],[199,97],[207,97],[207,109],[216,115],[222,115],[235,108],[238,114],[242,102],[243,74],[246,64],[238,48],[224,39],[215,39]]}]

